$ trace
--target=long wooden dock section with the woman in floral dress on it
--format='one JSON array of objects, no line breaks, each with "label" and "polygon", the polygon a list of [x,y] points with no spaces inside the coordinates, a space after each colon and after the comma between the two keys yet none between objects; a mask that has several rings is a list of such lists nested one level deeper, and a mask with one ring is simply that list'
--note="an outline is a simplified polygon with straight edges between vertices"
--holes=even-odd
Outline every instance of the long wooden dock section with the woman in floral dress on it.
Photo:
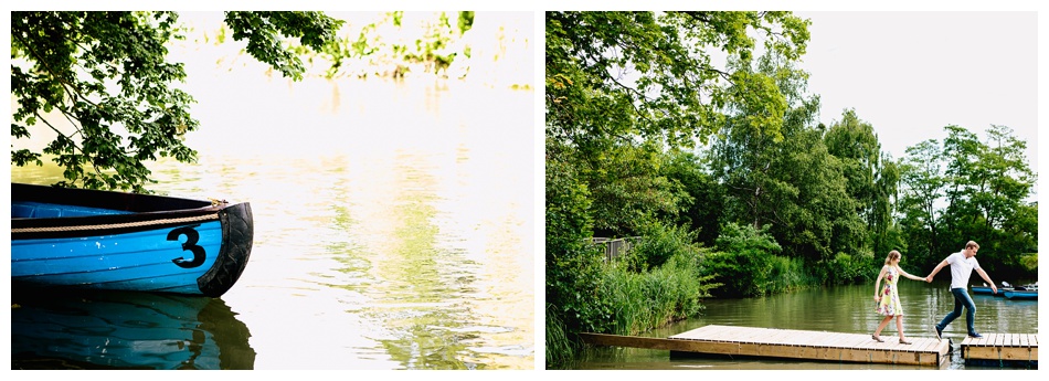
[{"label": "long wooden dock section with the woman in floral dress on it", "polygon": [[775,328],[706,326],[669,338],[580,334],[584,342],[729,357],[781,358],[835,362],[866,362],[943,367],[950,361],[951,343],[936,338],[908,338],[870,334],[841,334]]}]

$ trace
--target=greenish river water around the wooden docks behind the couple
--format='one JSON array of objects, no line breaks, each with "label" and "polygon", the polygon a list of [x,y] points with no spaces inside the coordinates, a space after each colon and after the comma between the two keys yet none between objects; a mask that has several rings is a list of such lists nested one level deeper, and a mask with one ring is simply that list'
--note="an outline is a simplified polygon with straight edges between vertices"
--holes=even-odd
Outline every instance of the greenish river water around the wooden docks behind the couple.
[{"label": "greenish river water around the wooden docks behind the couple", "polygon": [[[994,279],[994,274],[990,274]],[[900,298],[905,313],[903,332],[909,338],[934,337],[933,326],[954,308],[949,284],[901,281]],[[947,275],[949,276],[949,275]],[[999,279],[995,279],[999,281]],[[1017,284],[1022,284],[1017,282]],[[873,334],[881,315],[875,313],[873,285],[839,286],[803,290],[793,294],[746,299],[708,299],[701,317],[680,321],[642,334],[665,338],[707,325],[764,327],[814,331]],[[989,295],[973,295],[976,304],[978,332],[1038,334],[1038,301],[1009,300]],[[947,369],[987,369],[966,366],[960,357],[965,339],[965,316],[955,319],[943,332],[953,341]],[[887,342],[898,339],[896,321],[881,337]],[[824,369],[929,369],[928,367],[838,363],[773,359],[674,358],[666,350],[637,348],[594,348],[586,350],[573,366],[575,369],[717,369],[717,370],[824,370]],[[997,369],[997,368],[994,368]]]}]

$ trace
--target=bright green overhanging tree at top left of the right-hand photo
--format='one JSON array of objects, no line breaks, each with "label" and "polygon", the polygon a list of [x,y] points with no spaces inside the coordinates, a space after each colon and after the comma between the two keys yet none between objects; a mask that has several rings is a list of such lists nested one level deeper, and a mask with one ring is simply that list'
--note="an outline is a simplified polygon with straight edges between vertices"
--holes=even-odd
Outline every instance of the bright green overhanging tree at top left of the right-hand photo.
[{"label": "bright green overhanging tree at top left of the right-hand photo", "polygon": [[[712,51],[748,61],[757,31],[765,49],[796,61],[807,21],[785,12],[550,12],[547,15],[547,137],[579,168],[598,233],[628,235],[691,201],[661,168],[667,151],[738,120],[778,135],[784,99],[773,80],[719,67]],[[548,147],[550,147],[548,145]]]}]

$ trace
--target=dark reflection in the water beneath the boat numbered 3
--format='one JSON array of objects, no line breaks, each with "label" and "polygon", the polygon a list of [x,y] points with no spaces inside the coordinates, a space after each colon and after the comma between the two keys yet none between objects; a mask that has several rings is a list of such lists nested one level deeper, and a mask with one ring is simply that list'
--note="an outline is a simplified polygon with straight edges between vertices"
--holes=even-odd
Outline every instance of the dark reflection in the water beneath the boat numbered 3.
[{"label": "dark reflection in the water beneath the boat numbered 3", "polygon": [[247,326],[222,299],[12,294],[12,369],[252,369]]}]

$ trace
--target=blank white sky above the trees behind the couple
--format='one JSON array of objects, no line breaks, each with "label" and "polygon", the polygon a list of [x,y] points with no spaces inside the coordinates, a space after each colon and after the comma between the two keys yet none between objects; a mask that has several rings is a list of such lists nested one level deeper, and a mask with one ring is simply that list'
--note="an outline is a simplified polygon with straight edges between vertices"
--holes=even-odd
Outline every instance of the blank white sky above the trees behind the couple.
[{"label": "blank white sky above the trees behind the couple", "polygon": [[812,20],[801,67],[820,121],[855,108],[899,159],[957,125],[981,140],[990,125],[1027,141],[1037,172],[1036,12],[796,12]]}]

